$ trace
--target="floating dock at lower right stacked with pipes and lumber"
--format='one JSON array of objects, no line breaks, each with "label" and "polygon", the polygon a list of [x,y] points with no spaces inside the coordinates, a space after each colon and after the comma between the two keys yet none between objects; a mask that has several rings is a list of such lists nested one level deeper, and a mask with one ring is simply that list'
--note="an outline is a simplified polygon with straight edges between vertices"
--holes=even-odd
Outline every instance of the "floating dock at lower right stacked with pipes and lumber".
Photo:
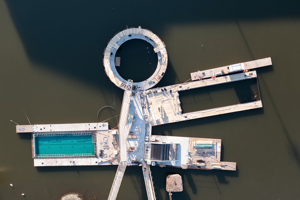
[{"label": "floating dock at lower right stacked with pipes and lumber", "polygon": [[[151,136],[151,145],[149,150],[145,151],[145,161],[155,162],[155,165],[181,167],[183,169],[221,169],[221,170],[235,170],[236,163],[222,162],[221,156],[221,140],[208,139],[208,138],[189,138],[189,137],[174,137],[174,136]],[[198,142],[198,143],[197,143]],[[172,145],[180,144],[177,146],[176,151],[172,148],[157,148],[154,145]],[[199,145],[197,145],[199,144]],[[147,143],[146,143],[147,148]],[[155,149],[151,149],[155,148]],[[176,159],[169,160],[152,160],[155,152],[160,154],[176,155]],[[155,157],[155,156],[154,156]]]}]

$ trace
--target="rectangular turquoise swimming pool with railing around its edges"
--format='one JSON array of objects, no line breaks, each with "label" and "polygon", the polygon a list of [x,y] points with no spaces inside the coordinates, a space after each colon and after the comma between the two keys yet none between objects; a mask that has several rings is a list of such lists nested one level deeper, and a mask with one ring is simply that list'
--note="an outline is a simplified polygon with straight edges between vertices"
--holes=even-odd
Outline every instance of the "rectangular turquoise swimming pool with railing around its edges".
[{"label": "rectangular turquoise swimming pool with railing around its edges", "polygon": [[33,134],[36,158],[95,156],[95,132]]}]

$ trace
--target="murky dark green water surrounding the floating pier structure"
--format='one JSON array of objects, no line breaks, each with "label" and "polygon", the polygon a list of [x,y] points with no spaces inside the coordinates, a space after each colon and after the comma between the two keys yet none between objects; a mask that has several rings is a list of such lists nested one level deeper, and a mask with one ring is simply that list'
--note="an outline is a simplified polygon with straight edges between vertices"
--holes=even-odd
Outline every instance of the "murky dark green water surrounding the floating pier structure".
[{"label": "murky dark green water surrounding the floating pier structure", "polygon": [[[21,193],[55,199],[72,190],[107,199],[117,166],[34,167],[31,137],[14,133],[10,120],[28,124],[22,109],[32,124],[96,122],[106,105],[119,113],[123,91],[112,86],[102,58],[107,41],[126,25],[152,30],[166,44],[168,68],[157,86],[227,64],[265,57],[273,63],[257,70],[262,109],[153,128],[153,134],[222,139],[221,159],[237,163],[235,172],[152,167],[158,199],[169,198],[166,175],[174,172],[184,191],[173,199],[299,199],[299,7],[299,1],[1,0],[0,199],[24,199]],[[152,59],[139,52],[132,59]],[[219,99],[217,90],[195,99],[210,94],[209,106],[236,95],[230,87],[220,89]],[[99,121],[113,114],[103,109]],[[116,127],[115,119],[109,122]],[[141,170],[126,169],[118,199],[147,198]]]}]

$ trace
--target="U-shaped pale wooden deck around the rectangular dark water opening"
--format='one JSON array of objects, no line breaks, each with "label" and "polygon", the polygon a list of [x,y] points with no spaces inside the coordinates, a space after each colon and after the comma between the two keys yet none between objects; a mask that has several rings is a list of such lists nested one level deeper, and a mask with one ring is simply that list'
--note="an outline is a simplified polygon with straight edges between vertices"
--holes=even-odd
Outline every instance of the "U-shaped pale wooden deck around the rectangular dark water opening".
[{"label": "U-shaped pale wooden deck around the rectangular dark water opening", "polygon": [[[167,124],[176,121],[185,121],[189,119],[196,119],[196,118],[220,115],[220,114],[225,114],[230,112],[237,112],[237,111],[242,111],[247,109],[260,108],[262,107],[262,102],[259,100],[250,103],[242,103],[242,104],[236,104],[236,105],[230,105],[230,106],[225,106],[220,108],[213,108],[208,110],[182,114],[178,91],[205,87],[209,85],[228,83],[228,82],[239,81],[244,79],[251,79],[251,78],[256,78],[256,71],[233,74],[228,76],[221,76],[215,79],[206,79],[201,81],[194,81],[194,82],[188,82],[188,83],[183,83],[178,85],[170,85],[163,88],[154,88],[151,90],[147,90],[146,98],[148,102],[150,125],[156,126],[156,125]],[[172,92],[170,92],[170,90],[172,90]]]}]

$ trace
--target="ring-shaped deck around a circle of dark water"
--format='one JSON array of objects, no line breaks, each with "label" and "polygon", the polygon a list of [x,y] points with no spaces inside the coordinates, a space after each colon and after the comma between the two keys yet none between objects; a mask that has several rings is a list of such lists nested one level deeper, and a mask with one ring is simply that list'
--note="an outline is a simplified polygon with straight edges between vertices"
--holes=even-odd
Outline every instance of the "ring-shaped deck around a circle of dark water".
[{"label": "ring-shaped deck around a circle of dark water", "polygon": [[[119,88],[126,89],[127,80],[123,79],[116,70],[115,56],[119,47],[126,41],[131,39],[142,39],[149,42],[154,47],[154,52],[158,56],[158,64],[155,72],[148,79],[142,82],[133,82],[133,87],[136,90],[147,90],[156,85],[167,69],[168,55],[164,42],[152,31],[148,29],[139,28],[126,28],[123,31],[119,31],[113,38],[107,43],[107,47],[104,49],[103,66],[106,75],[110,80]],[[143,69],[141,69],[143,73]]]}]

